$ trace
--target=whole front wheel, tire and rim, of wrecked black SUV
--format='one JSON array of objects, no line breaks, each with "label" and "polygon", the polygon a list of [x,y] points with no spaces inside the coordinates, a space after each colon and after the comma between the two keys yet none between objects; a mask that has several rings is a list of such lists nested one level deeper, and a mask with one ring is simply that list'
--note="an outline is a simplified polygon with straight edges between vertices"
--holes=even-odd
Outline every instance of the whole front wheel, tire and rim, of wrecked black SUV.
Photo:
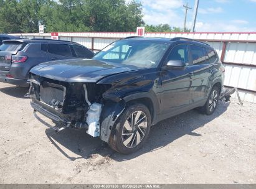
[{"label": "whole front wheel, tire and rim, of wrecked black SUV", "polygon": [[121,154],[131,154],[145,143],[151,126],[151,114],[144,104],[128,105],[110,135],[108,145]]}]

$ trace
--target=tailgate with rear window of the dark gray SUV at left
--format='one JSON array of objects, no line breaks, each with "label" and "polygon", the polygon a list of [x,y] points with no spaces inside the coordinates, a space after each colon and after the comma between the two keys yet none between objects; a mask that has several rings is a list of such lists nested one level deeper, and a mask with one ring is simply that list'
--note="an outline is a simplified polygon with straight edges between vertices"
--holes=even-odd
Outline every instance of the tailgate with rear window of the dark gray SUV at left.
[{"label": "tailgate with rear window of the dark gray SUV at left", "polygon": [[9,71],[11,68],[11,55],[16,55],[23,46],[22,42],[8,41],[0,46],[0,74],[2,71]]}]

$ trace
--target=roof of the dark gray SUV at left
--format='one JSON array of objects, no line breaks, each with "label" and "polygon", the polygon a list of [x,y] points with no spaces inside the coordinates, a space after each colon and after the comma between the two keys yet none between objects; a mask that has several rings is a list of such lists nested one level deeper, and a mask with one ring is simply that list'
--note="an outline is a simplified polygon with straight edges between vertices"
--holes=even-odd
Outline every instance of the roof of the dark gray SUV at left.
[{"label": "roof of the dark gray SUV at left", "polygon": [[77,44],[80,45],[76,42],[71,42],[69,40],[54,40],[54,39],[7,39],[3,40],[3,42],[12,42],[12,41],[18,41],[18,42],[24,42],[24,43],[56,43],[56,44]]}]

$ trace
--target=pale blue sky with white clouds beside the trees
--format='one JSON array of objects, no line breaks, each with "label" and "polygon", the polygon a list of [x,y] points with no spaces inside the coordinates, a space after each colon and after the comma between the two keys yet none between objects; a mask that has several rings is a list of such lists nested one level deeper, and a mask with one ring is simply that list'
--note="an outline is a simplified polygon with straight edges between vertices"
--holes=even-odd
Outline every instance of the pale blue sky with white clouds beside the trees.
[{"label": "pale blue sky with white clouds beside the trees", "polygon": [[[146,24],[170,24],[183,27],[184,7],[194,0],[138,0],[143,4]],[[191,28],[193,9],[187,15]],[[200,0],[197,32],[256,32],[256,0]]]}]

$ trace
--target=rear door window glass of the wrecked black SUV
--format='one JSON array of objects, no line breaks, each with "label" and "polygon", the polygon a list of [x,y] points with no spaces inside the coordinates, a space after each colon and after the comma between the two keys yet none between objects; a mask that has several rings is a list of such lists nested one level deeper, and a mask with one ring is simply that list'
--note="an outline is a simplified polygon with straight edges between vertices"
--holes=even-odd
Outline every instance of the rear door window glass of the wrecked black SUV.
[{"label": "rear door window glass of the wrecked black SUV", "polygon": [[206,63],[206,53],[203,47],[190,45],[193,65],[201,65]]}]

